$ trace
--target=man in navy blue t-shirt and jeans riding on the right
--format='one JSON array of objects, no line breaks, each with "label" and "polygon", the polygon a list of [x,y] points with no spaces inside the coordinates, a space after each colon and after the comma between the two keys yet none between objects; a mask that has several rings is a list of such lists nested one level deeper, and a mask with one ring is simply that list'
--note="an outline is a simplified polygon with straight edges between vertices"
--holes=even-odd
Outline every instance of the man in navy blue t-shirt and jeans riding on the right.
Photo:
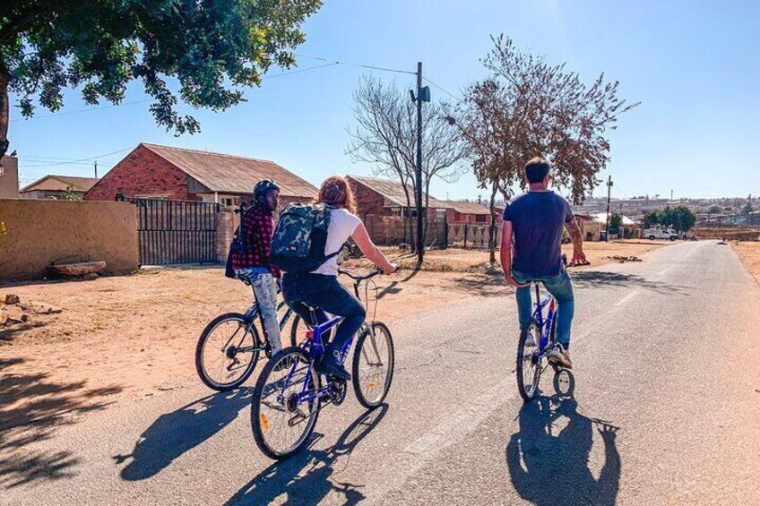
[{"label": "man in navy blue t-shirt and jeans riding on the right", "polygon": [[564,227],[573,240],[573,262],[586,262],[586,255],[583,234],[570,204],[547,189],[549,168],[548,161],[540,158],[525,165],[528,192],[514,197],[504,210],[501,265],[506,282],[517,287],[521,328],[531,322],[531,281],[540,281],[557,299],[557,344],[548,358],[571,369],[568,347],[575,306],[573,285],[561,258]]}]

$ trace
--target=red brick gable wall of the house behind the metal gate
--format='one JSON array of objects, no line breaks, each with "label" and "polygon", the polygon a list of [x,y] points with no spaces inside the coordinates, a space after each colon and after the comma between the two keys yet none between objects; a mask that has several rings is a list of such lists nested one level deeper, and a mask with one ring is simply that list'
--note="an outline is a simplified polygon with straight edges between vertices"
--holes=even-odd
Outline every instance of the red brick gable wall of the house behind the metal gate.
[{"label": "red brick gable wall of the house behind the metal gate", "polygon": [[184,172],[142,145],[108,171],[84,199],[114,201],[118,193],[126,197],[165,195],[172,200],[200,200],[187,193]]}]

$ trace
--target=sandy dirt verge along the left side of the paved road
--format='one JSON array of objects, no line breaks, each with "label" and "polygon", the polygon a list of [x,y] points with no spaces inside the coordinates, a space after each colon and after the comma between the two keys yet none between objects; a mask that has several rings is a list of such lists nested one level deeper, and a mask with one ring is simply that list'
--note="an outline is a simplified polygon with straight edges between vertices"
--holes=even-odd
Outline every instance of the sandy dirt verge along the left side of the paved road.
[{"label": "sandy dirt verge along the left side of the paved road", "polygon": [[[586,251],[593,269],[613,262],[609,257],[642,256],[667,244],[590,243]],[[462,297],[509,292],[487,252],[431,251],[419,272],[410,270],[413,256],[389,254],[404,269],[377,279],[377,320],[393,322]],[[365,263],[347,266],[362,269]],[[194,349],[205,325],[221,313],[244,311],[252,299],[250,288],[226,279],[220,267],[0,287],[0,299],[5,294],[62,312],[0,328],[0,431],[195,382]]]}]

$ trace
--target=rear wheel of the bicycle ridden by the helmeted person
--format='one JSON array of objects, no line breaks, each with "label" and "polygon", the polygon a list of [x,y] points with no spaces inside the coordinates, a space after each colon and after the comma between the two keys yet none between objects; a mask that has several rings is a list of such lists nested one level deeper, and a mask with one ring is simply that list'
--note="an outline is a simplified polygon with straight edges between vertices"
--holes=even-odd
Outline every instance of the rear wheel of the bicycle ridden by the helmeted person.
[{"label": "rear wheel of the bicycle ridden by the helmeted person", "polygon": [[221,314],[198,339],[195,370],[210,389],[237,388],[254,372],[260,348],[258,332],[243,314]]}]

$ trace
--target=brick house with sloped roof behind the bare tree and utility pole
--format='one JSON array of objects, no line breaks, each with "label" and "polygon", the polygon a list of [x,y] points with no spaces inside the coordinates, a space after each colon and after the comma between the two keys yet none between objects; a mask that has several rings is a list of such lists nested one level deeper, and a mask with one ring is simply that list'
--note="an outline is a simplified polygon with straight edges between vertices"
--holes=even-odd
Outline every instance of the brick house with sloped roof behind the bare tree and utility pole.
[{"label": "brick house with sloped roof behind the bare tree and utility pole", "polygon": [[[409,188],[409,205],[399,181],[365,176],[348,176],[347,179],[357,201],[358,214],[362,219],[368,214],[401,218],[417,216],[411,187]],[[425,202],[424,193],[422,202]],[[427,201],[427,218],[443,219],[448,209],[446,202],[431,196]]]}]

